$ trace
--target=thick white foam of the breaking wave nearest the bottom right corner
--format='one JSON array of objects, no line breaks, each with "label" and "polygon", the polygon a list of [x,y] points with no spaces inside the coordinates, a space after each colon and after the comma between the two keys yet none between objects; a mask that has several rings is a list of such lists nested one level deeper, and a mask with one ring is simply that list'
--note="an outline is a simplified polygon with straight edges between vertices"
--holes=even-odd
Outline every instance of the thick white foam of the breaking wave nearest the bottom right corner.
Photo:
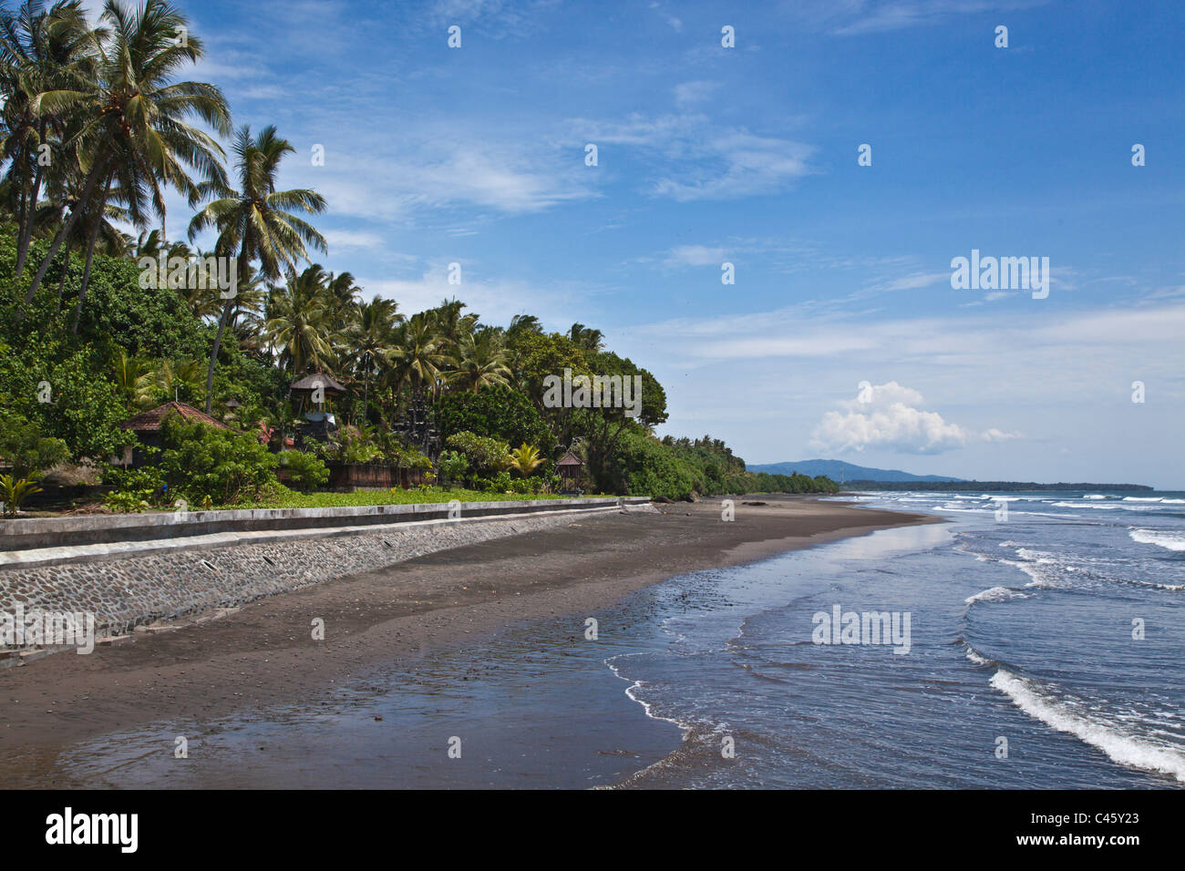
[{"label": "thick white foam of the breaking wave nearest the bottom right corner", "polygon": [[1056,693],[1036,681],[1004,668],[992,675],[989,683],[1030,717],[1098,748],[1115,762],[1171,774],[1185,782],[1185,752],[1180,749],[1126,735],[1107,723],[1093,721],[1059,702]]}]

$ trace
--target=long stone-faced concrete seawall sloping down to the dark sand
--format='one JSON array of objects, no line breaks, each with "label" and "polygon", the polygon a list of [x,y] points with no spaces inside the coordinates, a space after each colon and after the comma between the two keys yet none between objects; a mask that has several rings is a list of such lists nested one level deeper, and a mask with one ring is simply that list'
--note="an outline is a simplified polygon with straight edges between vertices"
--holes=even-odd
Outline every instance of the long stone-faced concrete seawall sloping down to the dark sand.
[{"label": "long stone-faced concrete seawall sloping down to the dark sand", "polygon": [[[653,511],[643,498],[463,502],[454,519],[447,504],[367,508],[8,521],[0,526],[6,549],[0,552],[0,615],[13,614],[18,604],[25,613],[87,611],[95,615],[96,636],[117,636],[425,553],[584,517]],[[104,531],[113,533],[110,540],[96,540]],[[70,540],[71,532],[85,543],[55,544]],[[158,536],[146,538],[150,532]],[[19,649],[28,655],[30,645],[4,647],[4,641],[0,667],[21,661]]]}]

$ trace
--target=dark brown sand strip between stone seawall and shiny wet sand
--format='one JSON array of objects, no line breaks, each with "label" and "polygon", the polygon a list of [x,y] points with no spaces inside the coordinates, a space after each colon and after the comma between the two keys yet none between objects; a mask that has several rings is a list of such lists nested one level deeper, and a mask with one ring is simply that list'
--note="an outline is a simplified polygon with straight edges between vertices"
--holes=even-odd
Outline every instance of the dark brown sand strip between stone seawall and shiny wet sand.
[{"label": "dark brown sand strip between stone seawall and shiny wet sand", "polygon": [[[345,575],[200,625],[136,635],[91,655],[59,654],[0,672],[0,771],[53,787],[70,745],[148,723],[209,721],[327,692],[428,652],[463,649],[524,620],[563,621],[690,571],[940,518],[816,498],[658,505],[655,513],[579,517],[551,530],[466,545]],[[325,640],[309,626],[325,621]],[[570,625],[570,626],[569,626]]]}]

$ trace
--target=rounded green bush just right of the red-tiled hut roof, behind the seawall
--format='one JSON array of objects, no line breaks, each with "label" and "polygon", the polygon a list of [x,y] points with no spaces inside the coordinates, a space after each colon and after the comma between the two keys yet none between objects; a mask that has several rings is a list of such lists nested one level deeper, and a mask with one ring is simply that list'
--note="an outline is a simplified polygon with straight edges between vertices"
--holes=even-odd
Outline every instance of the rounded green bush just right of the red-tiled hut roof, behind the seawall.
[{"label": "rounded green bush just right of the red-tiled hut roof, behind the seawall", "polygon": [[231,433],[177,415],[161,422],[166,449],[160,467],[171,488],[191,504],[226,504],[276,483],[278,462],[250,433]]}]

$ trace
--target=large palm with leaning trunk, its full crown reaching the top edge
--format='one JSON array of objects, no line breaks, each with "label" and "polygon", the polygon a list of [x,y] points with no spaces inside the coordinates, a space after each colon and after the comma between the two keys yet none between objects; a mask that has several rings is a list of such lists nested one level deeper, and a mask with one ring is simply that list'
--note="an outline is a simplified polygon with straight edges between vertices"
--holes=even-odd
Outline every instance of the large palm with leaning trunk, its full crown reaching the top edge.
[{"label": "large palm with leaning trunk, its full crown reaching the top edge", "polygon": [[[38,94],[34,114],[70,113],[70,135],[63,143],[85,173],[78,209],[58,230],[25,294],[27,307],[45,273],[70,236],[96,191],[105,201],[113,182],[124,191],[134,222],[145,220],[149,200],[164,219],[165,194],[161,182],[198,201],[199,186],[186,166],[198,171],[205,184],[225,186],[223,150],[209,134],[186,123],[196,115],[222,135],[230,134],[230,108],[222,91],[201,82],[174,82],[182,65],[203,57],[201,40],[193,34],[177,39],[188,19],[166,0],[145,0],[135,12],[117,0],[107,0],[100,19],[110,26],[90,31],[94,75],[79,69],[64,70],[66,87]],[[96,235],[88,241],[88,254]],[[85,299],[85,282],[79,287],[79,305]],[[24,315],[24,307],[18,320]]]}]

